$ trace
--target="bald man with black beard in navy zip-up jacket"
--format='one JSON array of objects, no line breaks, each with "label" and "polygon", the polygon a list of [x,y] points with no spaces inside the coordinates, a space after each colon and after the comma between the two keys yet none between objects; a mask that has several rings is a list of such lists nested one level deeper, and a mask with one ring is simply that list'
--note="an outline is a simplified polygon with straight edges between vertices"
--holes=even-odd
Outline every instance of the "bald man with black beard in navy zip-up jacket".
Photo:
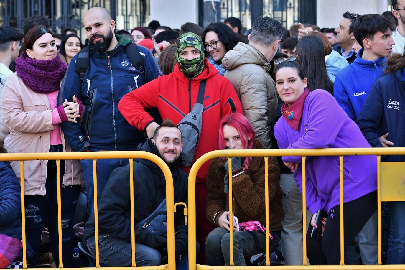
[{"label": "bald man with black beard in navy zip-up jacket", "polygon": [[[150,52],[138,47],[144,63],[145,76],[130,62],[126,49],[130,40],[114,35],[115,21],[107,9],[94,7],[83,17],[83,26],[90,41],[87,72],[83,80],[76,72],[78,56],[72,58],[68,67],[58,102],[75,98],[84,105],[82,120],[73,125],[61,125],[73,151],[119,151],[136,150],[145,142],[143,131],[130,125],[118,111],[118,102],[130,91],[156,79],[160,72]],[[128,159],[99,159],[97,161],[97,195],[100,198],[111,172],[126,166]],[[92,160],[81,161],[87,187],[87,213],[93,202]]]}]

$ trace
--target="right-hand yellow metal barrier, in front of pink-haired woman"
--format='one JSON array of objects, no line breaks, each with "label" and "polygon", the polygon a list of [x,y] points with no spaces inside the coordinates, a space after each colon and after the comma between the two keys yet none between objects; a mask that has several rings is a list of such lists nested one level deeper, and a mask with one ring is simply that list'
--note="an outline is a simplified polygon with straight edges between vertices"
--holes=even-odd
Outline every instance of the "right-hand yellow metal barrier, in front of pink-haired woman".
[{"label": "right-hand yellow metal barrier, in front of pink-haired woman", "polygon": [[[343,156],[345,155],[376,155],[377,156],[377,214],[378,214],[378,264],[377,265],[344,265],[343,242]],[[246,149],[217,150],[201,156],[192,166],[188,178],[188,264],[189,270],[206,269],[397,269],[404,270],[405,265],[382,265],[381,262],[381,201],[405,201],[405,162],[383,162],[381,155],[405,155],[405,147],[390,148],[335,148],[335,149]],[[302,266],[270,266],[269,237],[266,237],[266,266],[233,266],[233,234],[230,230],[230,266],[205,266],[196,264],[196,175],[203,164],[215,157],[227,157],[229,172],[232,172],[231,157],[264,157],[265,164],[265,196],[266,196],[266,230],[269,228],[269,179],[268,158],[277,156],[302,157],[303,185],[303,265]],[[307,265],[307,224],[305,202],[305,160],[307,156],[339,156],[340,160],[340,265],[339,266],[308,266]],[[382,165],[383,164],[383,165]],[[383,169],[382,169],[383,168]],[[384,179],[381,175],[389,175],[390,169],[396,170],[396,178]],[[401,174],[401,178],[398,177]],[[390,182],[388,183],[389,180]],[[232,221],[232,173],[229,174],[229,220]],[[232,226],[230,226],[232,227]],[[266,235],[268,232],[266,231]],[[271,267],[271,268],[269,268]]]}]

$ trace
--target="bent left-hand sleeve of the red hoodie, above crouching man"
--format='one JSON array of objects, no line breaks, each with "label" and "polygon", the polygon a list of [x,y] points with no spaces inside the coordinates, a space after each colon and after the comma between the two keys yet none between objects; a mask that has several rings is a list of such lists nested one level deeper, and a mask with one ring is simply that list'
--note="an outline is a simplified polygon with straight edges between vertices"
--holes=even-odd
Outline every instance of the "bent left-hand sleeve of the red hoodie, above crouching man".
[{"label": "bent left-hand sleeve of the red hoodie, above crouching man", "polygon": [[126,94],[118,103],[119,112],[138,130],[145,130],[146,126],[153,121],[153,117],[145,110],[158,107],[161,79],[162,77],[158,77],[142,85]]}]

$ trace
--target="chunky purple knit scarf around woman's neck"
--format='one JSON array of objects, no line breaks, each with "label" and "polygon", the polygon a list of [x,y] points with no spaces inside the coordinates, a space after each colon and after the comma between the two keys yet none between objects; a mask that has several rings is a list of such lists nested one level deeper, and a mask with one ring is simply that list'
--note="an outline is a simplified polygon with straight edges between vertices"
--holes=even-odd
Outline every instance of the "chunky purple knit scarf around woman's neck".
[{"label": "chunky purple knit scarf around woman's neck", "polygon": [[35,60],[21,54],[15,60],[15,70],[23,83],[32,91],[47,94],[60,89],[60,80],[68,66],[56,57],[47,60]]}]

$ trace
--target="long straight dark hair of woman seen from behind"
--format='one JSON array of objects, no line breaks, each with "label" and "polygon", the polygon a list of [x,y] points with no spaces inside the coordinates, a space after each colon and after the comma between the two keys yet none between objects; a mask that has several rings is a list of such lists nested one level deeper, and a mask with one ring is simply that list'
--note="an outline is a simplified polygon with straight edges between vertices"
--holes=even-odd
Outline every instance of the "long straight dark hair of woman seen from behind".
[{"label": "long straight dark hair of woman seen from behind", "polygon": [[325,64],[324,44],[318,36],[303,36],[298,42],[295,54],[298,63],[304,69],[311,90],[324,89],[333,94],[333,83],[330,81]]}]

